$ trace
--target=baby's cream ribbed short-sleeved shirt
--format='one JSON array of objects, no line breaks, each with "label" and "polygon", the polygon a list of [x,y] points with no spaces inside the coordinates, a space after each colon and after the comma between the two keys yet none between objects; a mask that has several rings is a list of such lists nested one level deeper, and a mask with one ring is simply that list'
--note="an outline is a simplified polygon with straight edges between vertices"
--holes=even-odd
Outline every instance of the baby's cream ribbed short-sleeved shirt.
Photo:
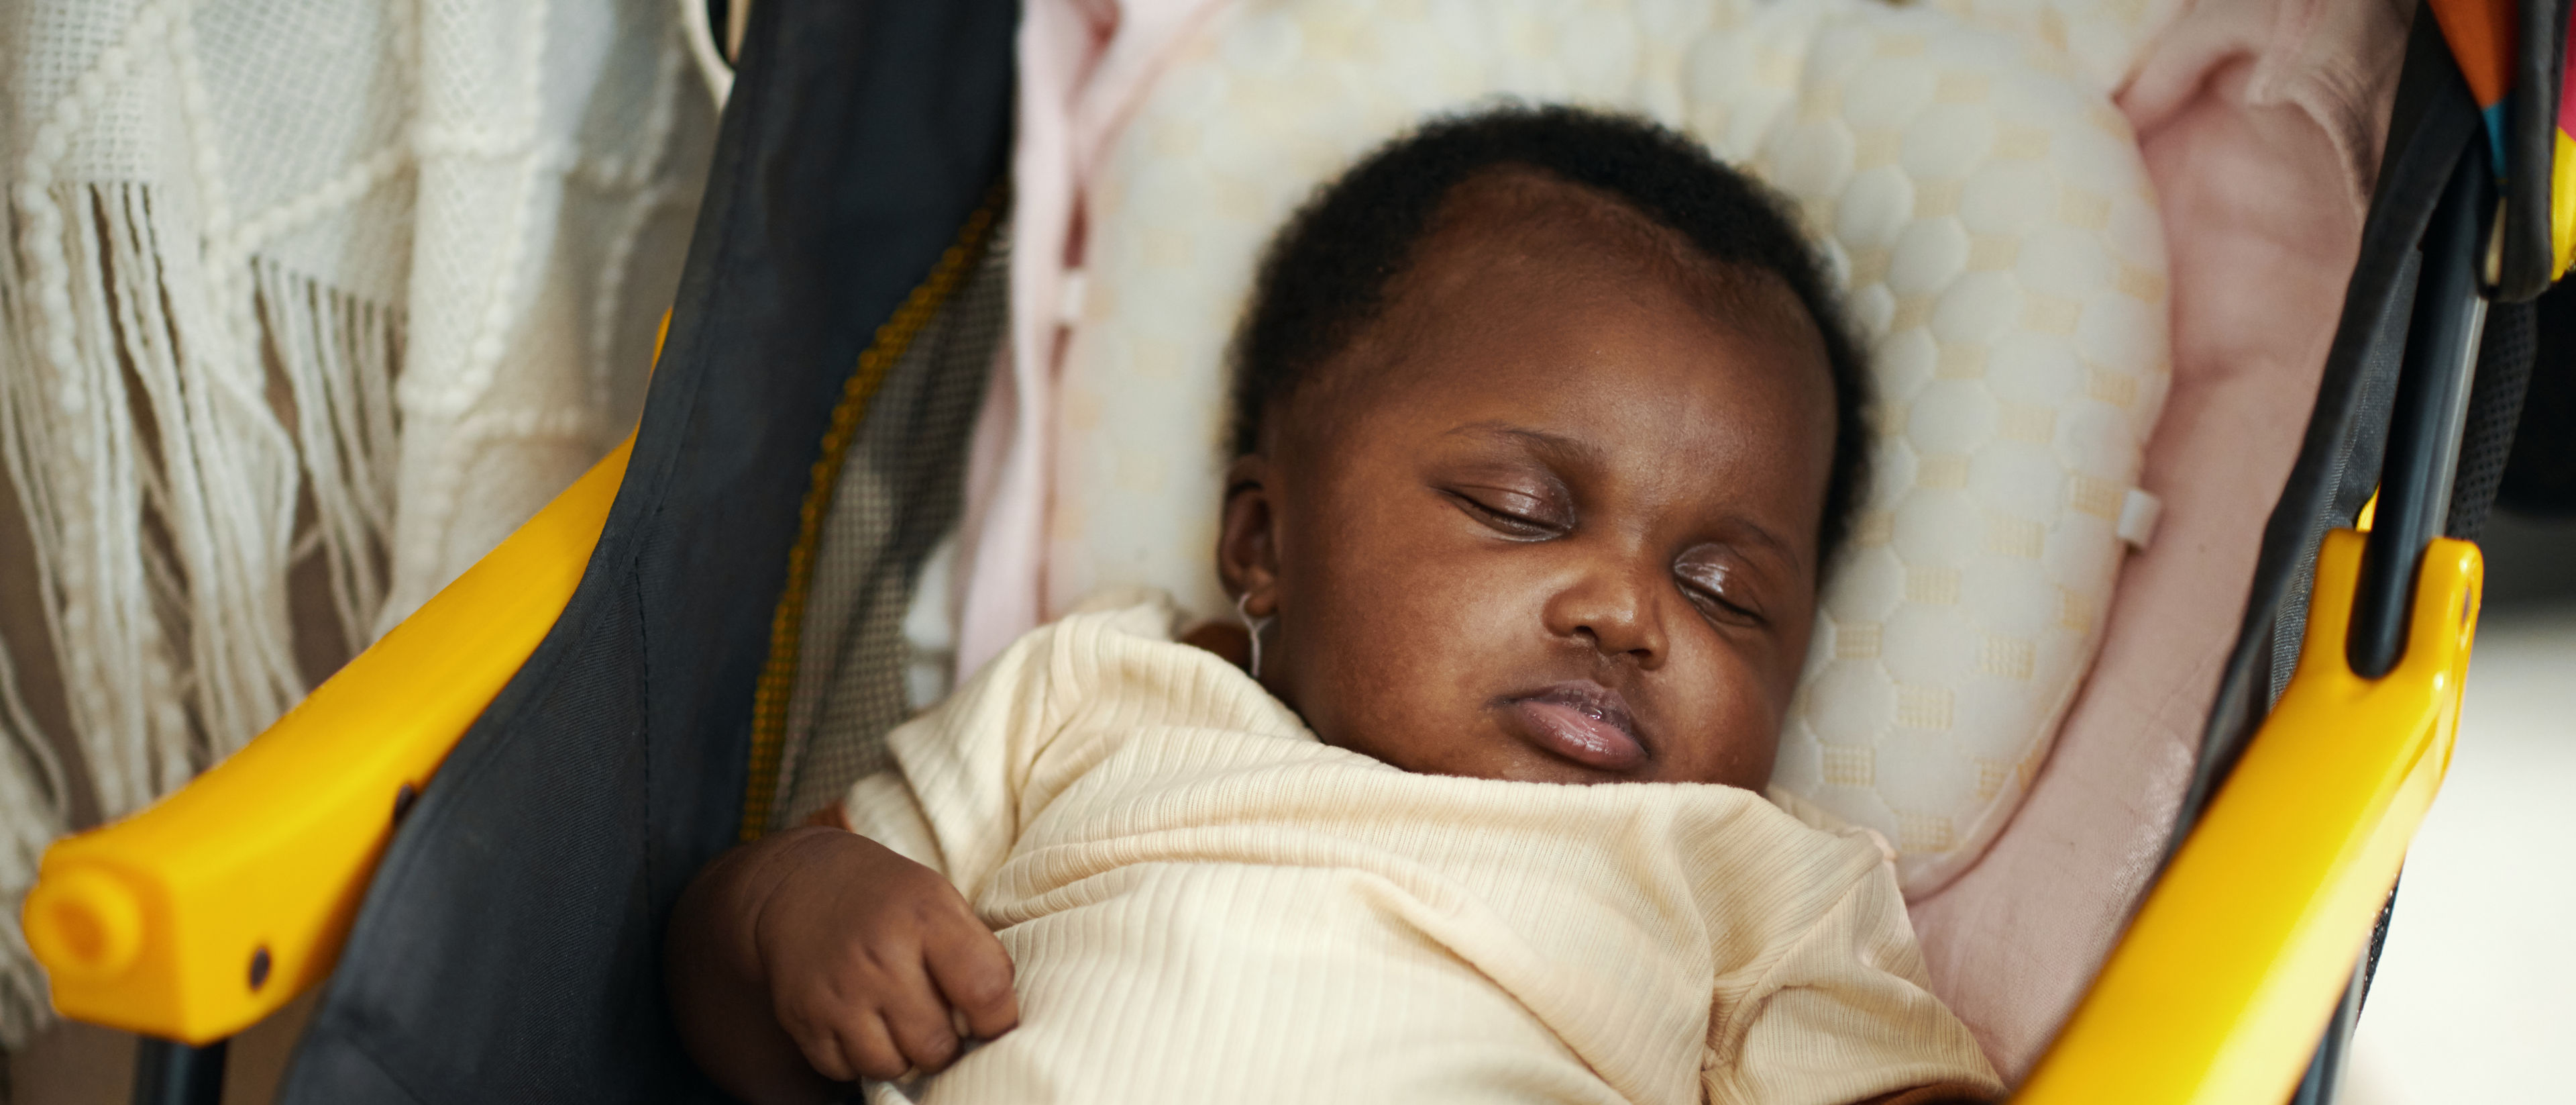
[{"label": "baby's cream ribbed short-sleeved shirt", "polygon": [[1412,775],[1170,626],[1025,636],[850,788],[1018,966],[1020,1028],[917,1100],[1999,1092],[1865,832],[1726,786]]}]

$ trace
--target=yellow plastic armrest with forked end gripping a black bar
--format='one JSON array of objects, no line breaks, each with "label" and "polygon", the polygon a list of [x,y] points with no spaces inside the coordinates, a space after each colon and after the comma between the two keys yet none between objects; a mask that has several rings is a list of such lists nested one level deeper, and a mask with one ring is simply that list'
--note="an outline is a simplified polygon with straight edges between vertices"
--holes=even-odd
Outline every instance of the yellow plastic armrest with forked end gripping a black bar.
[{"label": "yellow plastic armrest with forked end gripping a black bar", "polygon": [[2406,657],[2352,675],[2362,533],[2334,531],[2298,672],[2014,1105],[2280,1105],[2450,768],[2478,546],[2434,541]]}]

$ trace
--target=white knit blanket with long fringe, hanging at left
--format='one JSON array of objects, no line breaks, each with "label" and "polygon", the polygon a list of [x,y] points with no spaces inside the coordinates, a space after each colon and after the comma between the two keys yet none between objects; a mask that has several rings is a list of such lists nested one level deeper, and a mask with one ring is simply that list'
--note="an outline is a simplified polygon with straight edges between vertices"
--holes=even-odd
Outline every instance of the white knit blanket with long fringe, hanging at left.
[{"label": "white knit blanket with long fringe, hanging at left", "polygon": [[0,5],[0,1046],[75,809],[255,737],[631,428],[714,134],[680,10]]}]

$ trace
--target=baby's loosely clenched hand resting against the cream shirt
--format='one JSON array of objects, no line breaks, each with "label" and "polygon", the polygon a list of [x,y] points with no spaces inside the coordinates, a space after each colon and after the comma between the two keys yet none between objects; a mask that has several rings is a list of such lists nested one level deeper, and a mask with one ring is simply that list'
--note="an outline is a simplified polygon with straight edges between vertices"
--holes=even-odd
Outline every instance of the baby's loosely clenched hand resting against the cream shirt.
[{"label": "baby's loosely clenched hand resting against the cream shirt", "polygon": [[781,860],[752,945],[778,1025],[817,1074],[938,1072],[961,1038],[1020,1023],[1010,953],[938,871],[837,829],[801,835]]}]

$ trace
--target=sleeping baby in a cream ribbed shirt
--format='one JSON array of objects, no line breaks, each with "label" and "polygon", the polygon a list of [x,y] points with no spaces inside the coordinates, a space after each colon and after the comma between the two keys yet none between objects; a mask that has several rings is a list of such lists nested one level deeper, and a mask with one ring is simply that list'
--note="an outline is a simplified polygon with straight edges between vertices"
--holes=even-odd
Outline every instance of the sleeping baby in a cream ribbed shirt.
[{"label": "sleeping baby in a cream ribbed shirt", "polygon": [[1239,626],[1095,600],[896,729],[855,832],[708,865],[667,981],[716,1084],[2002,1092],[1883,845],[1759,793],[1868,448],[1770,193],[1643,121],[1437,121],[1296,214],[1231,358]]}]

